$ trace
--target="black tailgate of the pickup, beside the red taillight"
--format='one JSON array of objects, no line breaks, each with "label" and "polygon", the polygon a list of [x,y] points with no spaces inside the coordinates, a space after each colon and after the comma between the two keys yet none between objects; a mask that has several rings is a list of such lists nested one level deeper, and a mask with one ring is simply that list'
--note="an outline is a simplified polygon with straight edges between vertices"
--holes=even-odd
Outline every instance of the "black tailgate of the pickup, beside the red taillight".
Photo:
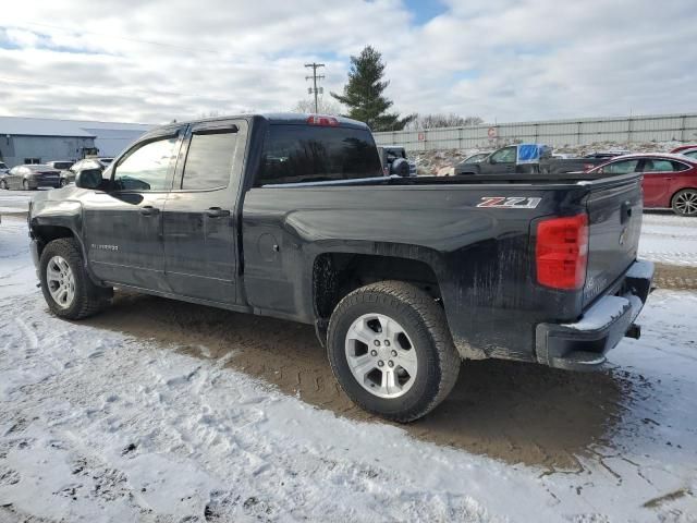
[{"label": "black tailgate of the pickup, beside the red taillight", "polygon": [[599,185],[588,195],[586,206],[589,230],[584,307],[636,259],[644,208],[640,175]]}]

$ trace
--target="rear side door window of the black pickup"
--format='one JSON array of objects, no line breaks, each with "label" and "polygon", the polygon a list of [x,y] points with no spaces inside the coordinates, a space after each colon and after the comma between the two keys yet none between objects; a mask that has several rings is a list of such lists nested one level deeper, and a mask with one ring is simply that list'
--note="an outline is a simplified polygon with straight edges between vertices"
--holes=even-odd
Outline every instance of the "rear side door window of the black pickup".
[{"label": "rear side door window of the black pickup", "polygon": [[186,154],[182,188],[227,187],[232,172],[237,133],[192,135]]}]

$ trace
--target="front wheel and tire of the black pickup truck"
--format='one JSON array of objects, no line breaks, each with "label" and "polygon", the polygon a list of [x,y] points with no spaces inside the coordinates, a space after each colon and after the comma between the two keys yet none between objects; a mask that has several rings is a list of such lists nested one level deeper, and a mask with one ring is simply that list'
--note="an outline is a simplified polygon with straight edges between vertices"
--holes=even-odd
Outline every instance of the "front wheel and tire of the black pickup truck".
[{"label": "front wheel and tire of the black pickup truck", "polygon": [[[56,316],[82,319],[91,316],[109,304],[111,289],[97,287],[87,275],[77,242],[72,238],[53,240],[41,252],[39,260],[41,291]],[[64,282],[64,283],[63,283]],[[62,300],[57,292],[63,283],[70,300]]]}]

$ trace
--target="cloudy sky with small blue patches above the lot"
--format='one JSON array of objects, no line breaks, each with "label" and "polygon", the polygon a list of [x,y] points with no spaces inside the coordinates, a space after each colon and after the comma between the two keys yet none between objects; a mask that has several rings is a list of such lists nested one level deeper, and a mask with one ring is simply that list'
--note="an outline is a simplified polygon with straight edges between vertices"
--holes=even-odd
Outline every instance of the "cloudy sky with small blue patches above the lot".
[{"label": "cloudy sky with small blue patches above the lot", "polygon": [[[382,52],[394,108],[488,122],[697,111],[694,0],[3,0],[0,114],[285,111]],[[327,95],[328,96],[328,95]]]}]

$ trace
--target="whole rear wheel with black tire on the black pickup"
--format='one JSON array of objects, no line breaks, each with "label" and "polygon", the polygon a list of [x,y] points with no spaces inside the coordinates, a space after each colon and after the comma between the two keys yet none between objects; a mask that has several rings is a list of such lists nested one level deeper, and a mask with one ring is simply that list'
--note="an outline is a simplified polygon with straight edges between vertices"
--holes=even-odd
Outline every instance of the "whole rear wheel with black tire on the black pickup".
[{"label": "whole rear wheel with black tire on the black pickup", "polygon": [[[346,295],[331,316],[327,352],[354,403],[401,423],[443,401],[461,365],[443,309],[402,281],[372,283]],[[384,378],[390,370],[392,380]]]}]

